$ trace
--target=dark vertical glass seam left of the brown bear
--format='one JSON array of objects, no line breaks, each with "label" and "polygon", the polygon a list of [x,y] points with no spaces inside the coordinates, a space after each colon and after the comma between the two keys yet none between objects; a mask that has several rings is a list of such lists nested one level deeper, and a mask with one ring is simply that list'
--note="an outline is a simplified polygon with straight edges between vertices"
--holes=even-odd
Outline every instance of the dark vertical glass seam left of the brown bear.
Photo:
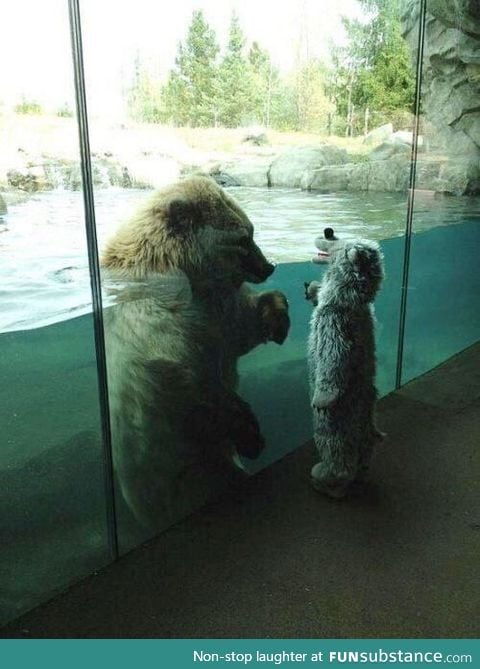
[{"label": "dark vertical glass seam left of the brown bear", "polygon": [[118,558],[118,535],[113,478],[112,435],[108,402],[108,381],[105,354],[105,332],[103,326],[101,276],[100,263],[98,259],[97,229],[95,223],[95,202],[93,196],[90,140],[88,134],[88,115],[85,94],[85,73],[83,66],[83,46],[79,0],[69,0],[68,8],[74,67],[75,100],[77,107],[77,122],[80,143],[83,200],[85,208],[85,231],[87,237],[90,286],[92,291],[95,353],[97,362],[97,378],[104,458],[107,536],[111,558],[116,560]]}]

